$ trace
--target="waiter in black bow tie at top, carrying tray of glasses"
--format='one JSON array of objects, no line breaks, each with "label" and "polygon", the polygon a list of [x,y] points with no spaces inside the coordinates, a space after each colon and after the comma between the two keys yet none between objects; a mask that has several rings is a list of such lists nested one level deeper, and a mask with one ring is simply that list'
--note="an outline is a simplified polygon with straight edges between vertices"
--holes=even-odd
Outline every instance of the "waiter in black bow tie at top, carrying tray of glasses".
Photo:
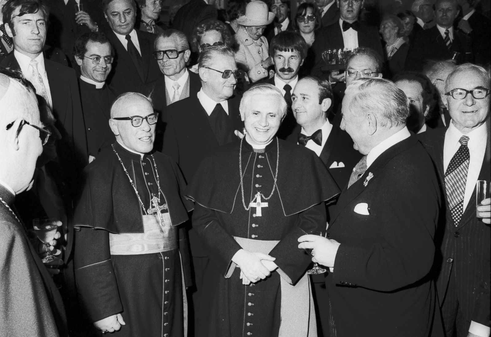
[{"label": "waiter in black bow tie at top, carrying tray of glasses", "polygon": [[[358,21],[363,0],[336,0],[336,3],[339,6],[339,20],[330,26],[322,27],[312,44],[315,55],[313,75],[322,76],[321,67],[324,66],[322,52],[327,49],[353,50],[358,47],[369,47],[383,59],[378,27],[367,26]],[[335,81],[340,81],[343,74],[332,71],[329,76],[337,76]],[[329,79],[332,82],[332,78]]]}]

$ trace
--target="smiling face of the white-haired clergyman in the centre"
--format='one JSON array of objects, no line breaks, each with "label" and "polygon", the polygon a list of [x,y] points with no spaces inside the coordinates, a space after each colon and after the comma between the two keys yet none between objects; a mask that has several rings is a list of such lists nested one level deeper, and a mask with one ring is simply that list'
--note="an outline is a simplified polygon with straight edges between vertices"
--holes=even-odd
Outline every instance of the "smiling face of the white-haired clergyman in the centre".
[{"label": "smiling face of the white-haired clergyman in the centre", "polygon": [[251,97],[241,110],[241,118],[246,127],[247,140],[253,145],[268,144],[276,134],[281,124],[279,98],[257,94]]}]

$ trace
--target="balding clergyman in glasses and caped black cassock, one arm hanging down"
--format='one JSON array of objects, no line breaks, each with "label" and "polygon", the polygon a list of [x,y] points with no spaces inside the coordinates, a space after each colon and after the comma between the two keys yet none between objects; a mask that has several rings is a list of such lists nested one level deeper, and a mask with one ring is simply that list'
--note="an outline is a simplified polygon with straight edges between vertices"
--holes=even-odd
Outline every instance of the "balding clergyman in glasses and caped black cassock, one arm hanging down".
[{"label": "balding clergyman in glasses and caped black cassock, one arm hanging down", "polygon": [[157,119],[145,96],[120,95],[109,121],[116,142],[85,169],[75,275],[82,305],[103,333],[186,336],[188,247],[178,225],[192,207],[181,200],[177,164],[149,155]]}]

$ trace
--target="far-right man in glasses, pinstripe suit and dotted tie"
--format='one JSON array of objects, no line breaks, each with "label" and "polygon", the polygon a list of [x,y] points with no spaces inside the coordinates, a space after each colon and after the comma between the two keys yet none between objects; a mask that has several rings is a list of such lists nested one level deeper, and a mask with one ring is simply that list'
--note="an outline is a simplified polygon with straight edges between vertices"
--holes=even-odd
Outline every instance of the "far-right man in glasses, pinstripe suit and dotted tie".
[{"label": "far-right man in glasses, pinstripe suit and dotted tie", "polygon": [[[455,68],[443,101],[452,120],[423,138],[445,201],[436,260],[446,336],[490,335],[490,199],[477,209],[476,181],[490,179],[490,77],[473,64]],[[478,200],[477,202],[481,202]],[[456,333],[456,334],[455,334]]]}]

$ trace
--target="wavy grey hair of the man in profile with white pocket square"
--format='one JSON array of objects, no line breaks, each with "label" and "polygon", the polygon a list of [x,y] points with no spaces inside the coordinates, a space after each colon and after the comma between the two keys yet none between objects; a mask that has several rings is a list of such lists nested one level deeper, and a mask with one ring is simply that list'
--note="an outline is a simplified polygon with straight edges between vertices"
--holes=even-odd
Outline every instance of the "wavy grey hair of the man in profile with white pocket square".
[{"label": "wavy grey hair of the man in profile with white pocket square", "polygon": [[350,111],[358,111],[358,114],[374,113],[380,118],[382,127],[406,125],[408,99],[404,91],[388,79],[356,79],[346,87],[345,95],[352,97],[348,106]]}]

